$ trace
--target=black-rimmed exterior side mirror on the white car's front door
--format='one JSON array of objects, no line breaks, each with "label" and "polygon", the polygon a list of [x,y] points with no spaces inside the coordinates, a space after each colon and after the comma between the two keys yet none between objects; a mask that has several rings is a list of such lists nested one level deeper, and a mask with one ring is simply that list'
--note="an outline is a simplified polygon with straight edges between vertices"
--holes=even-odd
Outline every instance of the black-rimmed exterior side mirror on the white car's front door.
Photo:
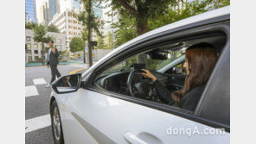
[{"label": "black-rimmed exterior side mirror on the white car's front door", "polygon": [[69,93],[77,91],[80,88],[81,73],[62,76],[52,84],[53,90],[58,93]]}]

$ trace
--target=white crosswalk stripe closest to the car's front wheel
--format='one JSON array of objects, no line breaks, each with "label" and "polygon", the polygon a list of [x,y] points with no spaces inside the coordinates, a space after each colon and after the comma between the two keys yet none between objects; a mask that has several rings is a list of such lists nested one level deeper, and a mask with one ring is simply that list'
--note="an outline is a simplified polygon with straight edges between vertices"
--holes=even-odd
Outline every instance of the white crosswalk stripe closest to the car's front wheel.
[{"label": "white crosswalk stripe closest to the car's front wheel", "polygon": [[28,127],[25,129],[25,132],[29,133],[31,131],[50,126],[51,116],[50,115],[38,116],[35,118],[31,118],[29,120],[26,120],[25,123],[26,123],[26,127]]}]

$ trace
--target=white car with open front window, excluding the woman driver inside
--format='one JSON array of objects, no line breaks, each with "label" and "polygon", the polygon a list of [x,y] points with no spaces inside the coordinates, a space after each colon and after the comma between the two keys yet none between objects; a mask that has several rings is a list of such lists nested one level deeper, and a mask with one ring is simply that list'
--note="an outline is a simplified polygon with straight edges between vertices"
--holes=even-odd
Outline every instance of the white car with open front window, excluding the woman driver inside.
[{"label": "white car with open front window, excluding the woman driver inside", "polygon": [[[86,72],[58,78],[50,98],[54,143],[229,143],[229,28],[229,7],[215,9],[142,34]],[[219,59],[195,111],[159,101],[150,80],[134,71],[145,66],[170,91],[180,90],[183,51],[200,42]]]}]

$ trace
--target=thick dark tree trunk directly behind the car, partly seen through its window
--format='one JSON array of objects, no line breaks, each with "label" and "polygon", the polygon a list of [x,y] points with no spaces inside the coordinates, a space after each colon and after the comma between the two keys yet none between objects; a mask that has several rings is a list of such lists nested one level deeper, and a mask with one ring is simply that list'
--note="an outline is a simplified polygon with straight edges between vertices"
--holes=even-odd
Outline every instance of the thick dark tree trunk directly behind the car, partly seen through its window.
[{"label": "thick dark tree trunk directly behind the car, partly seen through its window", "polygon": [[[138,18],[137,18],[138,19]],[[144,34],[147,32],[147,25],[148,25],[148,19],[142,18],[137,20],[136,22],[136,35],[139,36],[141,34]],[[140,64],[146,64],[147,62],[147,55],[146,54],[139,54],[137,62]]]}]

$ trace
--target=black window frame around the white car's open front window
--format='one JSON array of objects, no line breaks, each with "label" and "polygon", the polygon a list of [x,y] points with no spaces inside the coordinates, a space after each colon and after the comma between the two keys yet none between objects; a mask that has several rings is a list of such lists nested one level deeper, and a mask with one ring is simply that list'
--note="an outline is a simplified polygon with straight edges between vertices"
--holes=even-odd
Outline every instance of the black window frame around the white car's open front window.
[{"label": "black window frame around the white car's open front window", "polygon": [[[195,25],[195,23],[193,24],[190,24],[194,27],[191,26],[191,28],[184,28],[182,30],[180,30],[179,32],[177,33],[174,33],[174,34],[170,34],[170,35],[167,35],[167,34],[164,34],[166,32],[163,32],[163,36],[181,36],[181,37],[185,37],[185,35],[188,35],[188,34],[195,34],[195,33],[202,33],[204,30],[208,31],[208,28],[212,28],[211,30],[213,31],[216,31],[216,30],[225,30],[227,29],[227,23],[228,23],[228,28],[229,28],[229,15],[228,16],[221,16],[221,18],[225,17],[225,20],[222,19],[222,21],[217,21],[217,22],[214,22],[212,19],[210,20],[207,20],[206,23],[204,24],[199,24],[197,23]],[[220,17],[218,17],[220,18]],[[218,19],[217,20],[220,20]],[[223,23],[226,23],[226,24],[223,24]],[[201,26],[201,27],[199,27]],[[161,34],[160,34],[161,35]],[[180,40],[180,38],[179,38]],[[148,41],[143,41],[143,42],[148,42]],[[140,47],[143,47],[143,45],[145,44],[143,43],[142,46]],[[138,43],[137,43],[137,46]],[[128,46],[129,47],[129,46]],[[130,53],[132,52],[132,48],[135,49],[134,47],[136,46],[130,46],[130,49],[128,48],[123,48],[123,51],[127,51],[126,53]],[[224,47],[226,48],[226,47]],[[150,49],[150,48],[148,48]],[[144,48],[144,50],[140,50],[140,51],[145,51],[147,50],[146,48]],[[108,59],[106,60],[109,60],[109,59],[112,59],[112,60],[118,60],[118,62],[121,62],[122,60],[124,59],[118,59],[116,58],[116,56],[120,55],[121,52],[123,51],[119,51],[119,53],[116,53],[116,54],[113,54],[111,57],[109,57]],[[138,53],[141,53],[141,52],[138,52]],[[131,53],[129,56],[127,57],[131,57],[131,55],[135,55],[134,53]],[[114,58],[114,59],[113,59]],[[176,115],[176,116],[182,116],[183,118],[186,118],[186,119],[189,119],[193,122],[200,122],[202,124],[205,124],[205,125],[208,125],[210,127],[213,127],[213,128],[225,128],[225,131],[229,133],[229,127],[219,123],[219,122],[213,122],[213,121],[210,121],[208,119],[204,119],[202,117],[199,117],[199,116],[196,116],[195,113],[190,113],[189,111],[187,110],[182,110],[182,109],[178,109],[174,106],[170,106],[170,105],[166,105],[166,104],[162,104],[162,103],[155,103],[155,102],[150,102],[150,101],[147,101],[147,100],[144,100],[144,99],[138,99],[138,98],[135,98],[135,97],[129,97],[129,96],[125,96],[125,95],[122,95],[122,94],[118,94],[118,93],[114,93],[112,91],[106,91],[106,90],[99,90],[98,88],[96,87],[93,87],[92,84],[94,84],[93,82],[93,79],[96,77],[96,73],[97,72],[100,72],[99,71],[99,67],[100,66],[108,66],[107,64],[104,63],[105,61],[101,61],[101,64],[99,64],[99,66],[95,66],[93,68],[93,70],[91,70],[89,76],[86,75],[86,86],[84,87],[86,90],[89,90],[89,91],[95,91],[95,92],[98,92],[98,93],[101,93],[101,94],[104,94],[106,96],[110,96],[110,97],[116,97],[118,99],[122,99],[122,100],[125,100],[125,101],[128,101],[128,102],[131,102],[131,103],[137,103],[137,104],[140,104],[140,105],[143,105],[143,106],[147,106],[147,107],[150,107],[152,109],[155,109],[155,110],[160,110],[160,111],[163,111],[163,112],[167,112],[167,113],[170,113],[171,115]],[[97,69],[98,68],[98,69]],[[207,90],[205,90],[207,91]]]}]

